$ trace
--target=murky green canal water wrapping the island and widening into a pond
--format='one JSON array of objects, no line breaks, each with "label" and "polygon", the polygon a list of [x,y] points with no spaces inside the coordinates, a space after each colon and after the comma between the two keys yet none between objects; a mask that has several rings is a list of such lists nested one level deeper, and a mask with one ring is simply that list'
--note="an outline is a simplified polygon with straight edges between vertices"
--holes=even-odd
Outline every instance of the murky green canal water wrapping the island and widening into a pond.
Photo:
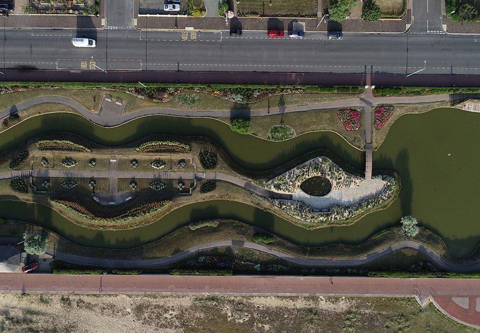
[{"label": "murky green canal water wrapping the island and widening into a pond", "polygon": [[[443,108],[402,116],[374,152],[374,169],[400,174],[399,199],[382,211],[362,218],[353,226],[304,230],[260,209],[235,201],[215,200],[181,207],[145,227],[128,231],[98,231],[79,227],[52,209],[23,202],[0,201],[1,216],[30,221],[82,245],[129,248],[154,241],[191,221],[234,218],[272,231],[294,242],[323,245],[358,244],[412,214],[421,224],[440,234],[450,251],[471,252],[480,240],[480,115]],[[30,118],[0,134],[0,151],[32,136],[49,132],[76,133],[104,145],[130,143],[146,135],[206,135],[247,169],[263,170],[316,148],[326,148],[346,163],[363,167],[363,153],[339,135],[308,133],[284,142],[270,142],[252,135],[233,133],[212,119],[168,116],[139,118],[117,128],[104,129],[74,114],[46,114]],[[449,156],[450,154],[450,156]]]}]

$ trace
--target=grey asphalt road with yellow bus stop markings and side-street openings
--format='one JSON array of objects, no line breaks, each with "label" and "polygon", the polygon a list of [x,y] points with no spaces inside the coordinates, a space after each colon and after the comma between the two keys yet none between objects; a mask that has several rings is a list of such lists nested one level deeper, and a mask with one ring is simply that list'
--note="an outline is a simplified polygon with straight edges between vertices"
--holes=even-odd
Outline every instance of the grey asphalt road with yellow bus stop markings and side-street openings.
[{"label": "grey asphalt road with yellow bus stop markings and side-street openings", "polygon": [[[409,74],[425,68],[421,74],[477,74],[480,64],[472,55],[480,42],[443,33],[440,3],[415,0],[409,33],[344,33],[343,40],[318,32],[302,40],[267,38],[258,31],[241,37],[228,31],[139,32],[129,28],[132,8],[111,8],[101,31],[3,30],[0,61],[4,69]],[[75,48],[75,36],[93,38],[97,47]]]}]

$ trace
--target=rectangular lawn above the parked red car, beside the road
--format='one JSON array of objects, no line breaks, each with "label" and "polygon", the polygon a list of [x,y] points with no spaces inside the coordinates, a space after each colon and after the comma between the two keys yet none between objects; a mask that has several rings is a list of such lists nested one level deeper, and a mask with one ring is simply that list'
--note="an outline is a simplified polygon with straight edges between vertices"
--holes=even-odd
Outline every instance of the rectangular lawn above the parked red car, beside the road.
[{"label": "rectangular lawn above the parked red car, beside the road", "polygon": [[[240,0],[239,16],[260,14],[260,16],[317,16],[316,0]],[[286,28],[286,27],[285,27]]]}]

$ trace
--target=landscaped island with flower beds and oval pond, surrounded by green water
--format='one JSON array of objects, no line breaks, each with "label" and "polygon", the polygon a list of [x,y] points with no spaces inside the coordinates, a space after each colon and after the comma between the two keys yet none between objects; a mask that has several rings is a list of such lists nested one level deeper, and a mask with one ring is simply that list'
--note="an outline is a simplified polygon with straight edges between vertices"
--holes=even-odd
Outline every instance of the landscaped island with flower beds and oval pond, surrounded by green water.
[{"label": "landscaped island with flower beds and oval pond, surrounded by green water", "polygon": [[43,204],[78,225],[102,230],[147,225],[181,206],[218,199],[314,229],[352,224],[397,197],[394,172],[364,179],[363,171],[322,152],[253,171],[205,136],[152,135],[107,147],[48,133],[4,152],[1,197]]}]

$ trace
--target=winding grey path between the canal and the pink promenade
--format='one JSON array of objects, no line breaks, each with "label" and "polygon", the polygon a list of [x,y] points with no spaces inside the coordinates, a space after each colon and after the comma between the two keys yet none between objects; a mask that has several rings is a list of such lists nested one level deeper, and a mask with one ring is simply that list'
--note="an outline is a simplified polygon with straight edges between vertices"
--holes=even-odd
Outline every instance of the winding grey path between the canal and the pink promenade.
[{"label": "winding grey path between the canal and the pink promenade", "polygon": [[311,258],[301,258],[294,255],[281,252],[275,249],[272,249],[261,243],[252,243],[240,240],[218,240],[212,241],[203,244],[197,244],[192,247],[189,247],[186,250],[177,252],[170,257],[164,258],[155,258],[155,259],[136,259],[136,260],[115,260],[115,259],[98,259],[90,257],[76,256],[72,254],[62,253],[55,249],[47,250],[47,253],[74,264],[79,265],[91,265],[91,266],[101,266],[101,267],[111,267],[111,268],[141,268],[141,267],[150,267],[150,266],[159,266],[169,263],[176,262],[180,259],[190,256],[191,254],[208,249],[214,249],[218,247],[241,247],[248,248],[256,251],[260,251],[271,256],[286,260],[290,263],[302,265],[302,266],[325,266],[325,267],[354,267],[367,265],[377,259],[380,259],[386,255],[391,254],[393,251],[400,249],[414,249],[426,255],[433,263],[445,269],[447,271],[453,271],[458,273],[467,273],[475,272],[480,270],[480,263],[473,266],[454,266],[442,258],[440,258],[435,252],[430,250],[428,247],[412,241],[412,240],[403,240],[394,244],[391,244],[384,249],[378,250],[376,252],[369,253],[363,257],[356,259],[337,259],[335,261],[331,259],[311,259]]}]

